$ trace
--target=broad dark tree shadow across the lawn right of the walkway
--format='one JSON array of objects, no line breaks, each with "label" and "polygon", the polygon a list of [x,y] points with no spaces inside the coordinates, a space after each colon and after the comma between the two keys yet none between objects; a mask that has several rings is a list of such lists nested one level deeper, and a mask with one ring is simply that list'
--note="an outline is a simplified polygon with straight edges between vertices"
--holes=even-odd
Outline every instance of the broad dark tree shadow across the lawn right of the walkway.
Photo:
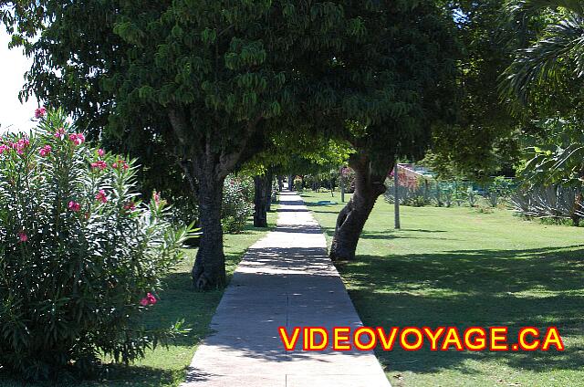
[{"label": "broad dark tree shadow across the lawn right of the walkway", "polygon": [[548,352],[379,351],[388,371],[477,372],[464,361],[493,360],[517,371],[584,367],[584,248],[460,250],[360,256],[339,264],[366,326],[556,326],[566,350]]}]

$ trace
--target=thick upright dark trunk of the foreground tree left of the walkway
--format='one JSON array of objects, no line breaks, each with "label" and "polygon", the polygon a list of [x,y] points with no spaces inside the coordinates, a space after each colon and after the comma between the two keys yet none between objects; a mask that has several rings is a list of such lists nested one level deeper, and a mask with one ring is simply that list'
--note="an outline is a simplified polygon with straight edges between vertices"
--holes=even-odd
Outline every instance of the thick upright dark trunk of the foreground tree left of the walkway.
[{"label": "thick upright dark trunk of the foreground tree left of the walkway", "polygon": [[224,179],[214,178],[212,175],[213,173],[197,175],[199,220],[203,231],[193,267],[193,284],[198,289],[221,288],[226,283],[221,226]]}]

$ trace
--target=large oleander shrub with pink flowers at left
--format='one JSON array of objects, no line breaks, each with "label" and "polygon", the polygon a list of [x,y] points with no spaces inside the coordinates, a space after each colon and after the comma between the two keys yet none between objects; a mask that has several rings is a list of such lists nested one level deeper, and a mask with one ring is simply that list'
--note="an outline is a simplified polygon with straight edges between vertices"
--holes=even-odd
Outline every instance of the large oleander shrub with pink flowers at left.
[{"label": "large oleander shrub with pink flowers at left", "polygon": [[180,324],[141,328],[189,230],[142,203],[131,162],[94,149],[59,111],[0,140],[0,368],[31,379],[134,361]]}]

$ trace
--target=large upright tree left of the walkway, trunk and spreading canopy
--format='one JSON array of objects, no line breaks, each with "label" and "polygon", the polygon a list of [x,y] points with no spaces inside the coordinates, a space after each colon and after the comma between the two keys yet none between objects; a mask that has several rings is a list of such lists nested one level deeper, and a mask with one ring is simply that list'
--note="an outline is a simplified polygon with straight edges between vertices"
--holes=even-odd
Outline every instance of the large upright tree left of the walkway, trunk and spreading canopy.
[{"label": "large upright tree left of the walkway, trunk and spreading canopy", "polygon": [[[197,288],[225,281],[225,176],[262,150],[278,117],[322,120],[323,112],[311,113],[308,103],[328,98],[326,88],[318,87],[318,73],[351,36],[359,36],[359,10],[372,6],[282,0],[4,3],[9,28],[17,22],[15,43],[35,58],[27,93],[130,144],[162,145],[186,180],[196,180],[203,227],[193,267]],[[348,16],[343,3],[357,12]]]}]

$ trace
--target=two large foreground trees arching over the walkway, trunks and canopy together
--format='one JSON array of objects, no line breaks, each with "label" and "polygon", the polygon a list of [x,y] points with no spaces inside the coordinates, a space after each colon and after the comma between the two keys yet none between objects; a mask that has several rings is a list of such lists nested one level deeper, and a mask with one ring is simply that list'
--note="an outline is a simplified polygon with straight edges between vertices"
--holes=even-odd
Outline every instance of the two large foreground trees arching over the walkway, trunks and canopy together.
[{"label": "two large foreground trees arching over the walkway, trunks and canopy together", "polygon": [[396,156],[424,152],[452,116],[456,27],[439,3],[39,0],[0,6],[0,19],[35,58],[23,96],[139,157],[146,182],[180,176],[193,190],[193,283],[218,288],[224,179],[275,139],[288,152],[315,136],[354,149],[330,256],[355,257]]}]

